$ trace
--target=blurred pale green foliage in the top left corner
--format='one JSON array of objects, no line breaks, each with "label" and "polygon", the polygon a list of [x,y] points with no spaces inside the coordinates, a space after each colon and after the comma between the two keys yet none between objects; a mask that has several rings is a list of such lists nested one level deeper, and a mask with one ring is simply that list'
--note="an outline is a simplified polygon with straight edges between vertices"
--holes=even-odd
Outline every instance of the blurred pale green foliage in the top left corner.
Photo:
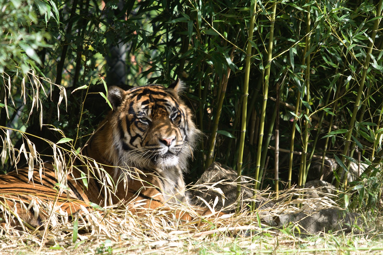
[{"label": "blurred pale green foliage in the top left corner", "polygon": [[26,75],[42,64],[36,51],[50,46],[46,40],[51,34],[44,28],[51,19],[58,22],[57,7],[54,2],[40,0],[2,0],[0,5],[0,73]]}]

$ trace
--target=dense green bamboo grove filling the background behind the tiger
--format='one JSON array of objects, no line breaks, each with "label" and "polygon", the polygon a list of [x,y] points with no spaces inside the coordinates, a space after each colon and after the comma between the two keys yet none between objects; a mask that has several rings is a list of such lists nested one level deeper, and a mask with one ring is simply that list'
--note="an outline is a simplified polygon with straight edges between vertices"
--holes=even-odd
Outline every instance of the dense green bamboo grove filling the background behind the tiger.
[{"label": "dense green bamboo grove filling the background behind the tiger", "polygon": [[[168,84],[180,77],[190,86],[185,96],[206,134],[190,181],[218,161],[254,178],[256,189],[272,187],[278,194],[304,187],[314,164],[322,175],[331,158],[338,167],[329,181],[340,191],[340,203],[375,208],[383,156],[381,2],[37,1],[32,16],[21,8],[21,19],[33,21],[20,26],[35,43],[4,39],[15,47],[4,49],[14,61],[0,64],[3,172],[11,168],[4,144],[20,146],[26,127],[49,124],[56,134],[43,138],[52,142],[87,138],[98,115],[82,111],[82,88],[105,96],[105,76],[114,85],[108,49],[125,45],[126,84]],[[9,26],[3,35],[7,31],[8,37],[19,33]],[[39,78],[41,87],[34,86],[34,75],[46,77]],[[68,109],[57,106],[65,89],[77,92],[67,93],[77,102]],[[18,98],[25,95],[29,101],[22,106]],[[70,117],[78,112],[85,114],[81,123]],[[352,164],[365,170],[349,182]]]}]

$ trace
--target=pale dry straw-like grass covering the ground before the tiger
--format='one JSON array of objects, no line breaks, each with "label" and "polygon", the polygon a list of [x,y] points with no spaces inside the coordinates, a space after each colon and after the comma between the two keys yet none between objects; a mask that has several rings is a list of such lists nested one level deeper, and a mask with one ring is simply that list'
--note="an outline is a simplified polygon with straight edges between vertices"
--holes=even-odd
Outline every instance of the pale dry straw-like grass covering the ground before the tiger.
[{"label": "pale dry straw-like grass covering the ground before the tiger", "polygon": [[[315,191],[312,191],[315,192]],[[269,197],[264,192],[260,194]],[[272,208],[257,214],[225,215],[221,218],[196,217],[180,222],[174,217],[185,206],[174,205],[171,211],[160,208],[145,214],[108,207],[88,210],[85,207],[69,221],[57,210],[49,228],[16,230],[3,227],[1,254],[252,254],[252,253],[344,253],[383,252],[380,233],[324,234],[300,236],[297,226],[271,227],[263,223],[270,216],[301,211],[304,208],[334,208],[329,196],[293,199],[297,191],[280,194]],[[327,194],[329,195],[329,194]],[[40,203],[37,203],[40,204]],[[44,204],[41,202],[41,204]],[[45,204],[45,206],[47,206]],[[3,208],[2,208],[3,209]],[[174,210],[174,211],[173,211]],[[61,214],[61,215],[60,215]],[[199,223],[199,224],[198,224]],[[77,226],[76,226],[77,224]],[[7,224],[5,224],[7,225]],[[316,252],[315,252],[316,251]]]}]

